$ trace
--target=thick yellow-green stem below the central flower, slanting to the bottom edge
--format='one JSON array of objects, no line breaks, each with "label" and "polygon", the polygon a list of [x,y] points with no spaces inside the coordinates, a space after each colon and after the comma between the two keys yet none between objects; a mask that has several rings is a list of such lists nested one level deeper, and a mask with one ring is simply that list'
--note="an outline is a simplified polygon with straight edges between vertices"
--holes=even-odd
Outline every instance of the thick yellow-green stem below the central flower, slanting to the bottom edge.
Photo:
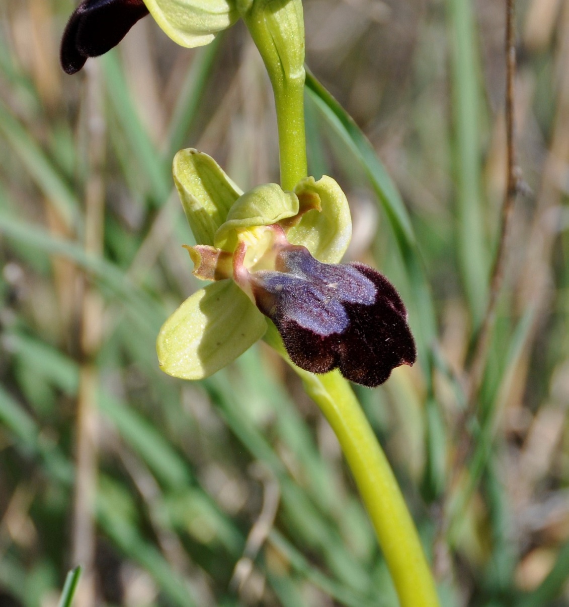
[{"label": "thick yellow-green stem below the central flower, slanting to the bottom edge", "polygon": [[339,372],[313,375],[288,359],[272,323],[267,341],[293,367],[336,433],[378,536],[401,607],[438,607],[427,560],[391,467],[350,385]]}]

